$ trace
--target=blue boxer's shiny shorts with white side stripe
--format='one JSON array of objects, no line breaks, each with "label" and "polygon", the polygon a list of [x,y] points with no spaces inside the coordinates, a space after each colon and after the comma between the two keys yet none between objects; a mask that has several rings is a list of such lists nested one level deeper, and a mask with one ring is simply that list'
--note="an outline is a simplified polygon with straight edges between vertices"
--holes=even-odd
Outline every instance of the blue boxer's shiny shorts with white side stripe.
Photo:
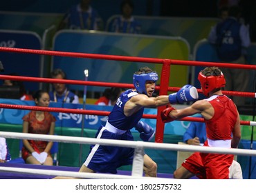
[{"label": "blue boxer's shiny shorts with white side stripe", "polygon": [[[114,133],[102,126],[98,129],[96,138],[134,141],[130,130]],[[133,159],[134,148],[95,144],[91,145],[84,165],[95,172],[116,174],[118,167],[131,165]]]}]

